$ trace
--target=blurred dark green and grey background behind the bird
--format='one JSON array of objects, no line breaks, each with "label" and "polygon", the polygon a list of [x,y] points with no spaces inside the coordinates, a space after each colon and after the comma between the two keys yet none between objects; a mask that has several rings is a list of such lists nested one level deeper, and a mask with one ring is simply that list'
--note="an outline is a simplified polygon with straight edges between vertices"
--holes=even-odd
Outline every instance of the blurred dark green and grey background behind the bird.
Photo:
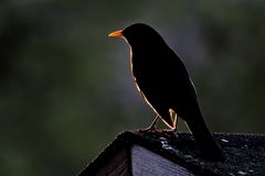
[{"label": "blurred dark green and grey background behind the bird", "polygon": [[135,22],[183,58],[212,131],[265,133],[264,21],[262,0],[2,0],[0,175],[75,175],[151,123],[128,45],[107,37]]}]

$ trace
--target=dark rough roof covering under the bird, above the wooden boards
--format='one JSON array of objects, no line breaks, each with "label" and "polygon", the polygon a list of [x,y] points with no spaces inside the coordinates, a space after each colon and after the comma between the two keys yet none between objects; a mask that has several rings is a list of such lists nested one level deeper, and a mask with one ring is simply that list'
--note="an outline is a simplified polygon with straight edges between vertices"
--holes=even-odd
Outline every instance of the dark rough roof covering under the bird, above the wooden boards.
[{"label": "dark rough roof covering under the bird, above the wooden boards", "polygon": [[178,133],[176,136],[171,131],[124,132],[92,161],[80,176],[92,175],[107,158],[132,145],[140,145],[197,175],[259,176],[265,173],[265,135],[214,133],[213,136],[226,155],[223,163],[203,160],[189,133]]}]

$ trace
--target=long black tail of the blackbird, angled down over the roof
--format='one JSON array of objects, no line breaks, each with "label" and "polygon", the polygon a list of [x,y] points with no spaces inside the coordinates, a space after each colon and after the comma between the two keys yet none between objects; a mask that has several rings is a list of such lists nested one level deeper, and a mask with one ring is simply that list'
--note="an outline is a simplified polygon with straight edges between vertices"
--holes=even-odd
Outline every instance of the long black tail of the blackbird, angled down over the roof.
[{"label": "long black tail of the blackbird, angled down over the roof", "polygon": [[214,141],[210,130],[208,129],[202,117],[193,118],[191,120],[186,120],[186,123],[194,136],[195,142],[199,145],[200,151],[203,156],[210,161],[224,161],[225,156]]}]

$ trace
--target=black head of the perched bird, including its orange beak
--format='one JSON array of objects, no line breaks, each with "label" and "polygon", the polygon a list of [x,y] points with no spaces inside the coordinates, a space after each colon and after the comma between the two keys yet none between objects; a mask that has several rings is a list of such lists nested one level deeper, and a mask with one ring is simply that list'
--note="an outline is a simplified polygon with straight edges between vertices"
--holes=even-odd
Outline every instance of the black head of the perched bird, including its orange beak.
[{"label": "black head of the perched bird, including its orange beak", "polygon": [[132,48],[135,47],[150,47],[165,44],[162,37],[147,24],[136,23],[131,24],[124,30],[118,30],[112,32],[108,36],[110,37],[124,37],[130,44]]}]

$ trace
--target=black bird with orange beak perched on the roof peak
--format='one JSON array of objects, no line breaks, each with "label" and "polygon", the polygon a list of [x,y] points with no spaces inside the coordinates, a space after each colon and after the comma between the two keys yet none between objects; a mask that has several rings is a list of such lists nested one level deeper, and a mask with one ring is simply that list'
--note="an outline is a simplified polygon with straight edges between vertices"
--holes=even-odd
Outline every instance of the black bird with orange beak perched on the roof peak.
[{"label": "black bird with orange beak perched on the roof peak", "polygon": [[203,120],[195,88],[183,62],[158,32],[147,24],[136,23],[108,36],[124,37],[130,46],[130,67],[137,89],[157,113],[148,130],[155,130],[158,119],[176,130],[180,117],[203,156],[224,161],[221,147]]}]

